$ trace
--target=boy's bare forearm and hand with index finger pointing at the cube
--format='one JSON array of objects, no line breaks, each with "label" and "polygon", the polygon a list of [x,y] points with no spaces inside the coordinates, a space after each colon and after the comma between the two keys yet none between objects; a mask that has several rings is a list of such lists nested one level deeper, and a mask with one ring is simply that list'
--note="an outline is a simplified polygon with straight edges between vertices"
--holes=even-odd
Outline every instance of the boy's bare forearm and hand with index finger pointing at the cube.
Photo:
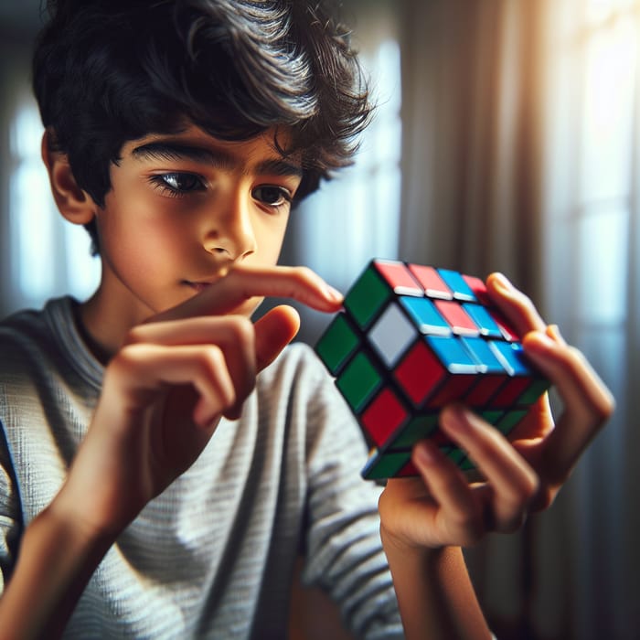
[{"label": "boy's bare forearm and hand with index finger pointing at the cube", "polygon": [[341,302],[306,270],[239,268],[135,327],[105,370],[65,484],[25,532],[0,599],[0,638],[61,635],[123,528],[193,464],[220,416],[240,413],[257,372],[298,328],[291,307],[255,325],[233,315],[256,295],[286,295],[325,311]]}]

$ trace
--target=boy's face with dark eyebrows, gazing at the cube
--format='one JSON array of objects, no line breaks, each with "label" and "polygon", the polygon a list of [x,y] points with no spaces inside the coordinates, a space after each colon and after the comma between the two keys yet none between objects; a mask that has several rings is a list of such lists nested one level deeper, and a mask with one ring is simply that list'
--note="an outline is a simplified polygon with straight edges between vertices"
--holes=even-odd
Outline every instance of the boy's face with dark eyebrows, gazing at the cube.
[{"label": "boy's face with dark eyebrows, gazing at the cube", "polygon": [[131,326],[234,264],[276,263],[302,172],[274,148],[273,132],[231,143],[192,126],[125,144],[121,156],[96,213],[102,281],[94,302],[102,309],[118,309]]}]

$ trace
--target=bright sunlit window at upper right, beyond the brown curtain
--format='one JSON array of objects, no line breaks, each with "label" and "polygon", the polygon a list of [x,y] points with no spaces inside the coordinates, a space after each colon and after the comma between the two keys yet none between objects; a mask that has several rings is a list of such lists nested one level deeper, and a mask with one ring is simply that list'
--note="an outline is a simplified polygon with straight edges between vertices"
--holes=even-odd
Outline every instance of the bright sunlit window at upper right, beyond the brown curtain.
[{"label": "bright sunlit window at upper right, beyond the brown curtain", "polygon": [[[559,284],[551,306],[569,320],[574,339],[603,330],[622,335],[637,171],[640,3],[569,5],[549,91],[548,233],[550,269],[566,273],[576,288],[569,301]],[[550,272],[548,280],[558,283]]]}]

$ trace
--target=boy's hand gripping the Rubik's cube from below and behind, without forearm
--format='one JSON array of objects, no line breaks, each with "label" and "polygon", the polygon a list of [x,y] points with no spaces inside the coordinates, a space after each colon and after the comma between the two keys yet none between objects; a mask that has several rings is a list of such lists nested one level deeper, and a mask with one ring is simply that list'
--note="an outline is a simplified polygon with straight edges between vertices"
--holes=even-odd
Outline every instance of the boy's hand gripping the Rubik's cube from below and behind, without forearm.
[{"label": "boy's hand gripping the Rubik's cube from below and behind, without forearm", "polygon": [[613,412],[613,398],[581,352],[547,326],[531,301],[504,276],[487,288],[522,340],[526,354],[560,391],[564,411],[554,426],[545,394],[510,435],[460,405],[443,410],[441,428],[475,461],[469,482],[432,443],[416,444],[420,478],[391,479],[380,498],[383,539],[438,549],[474,544],[489,531],[510,532],[528,512],[549,507],[581,453]]}]

